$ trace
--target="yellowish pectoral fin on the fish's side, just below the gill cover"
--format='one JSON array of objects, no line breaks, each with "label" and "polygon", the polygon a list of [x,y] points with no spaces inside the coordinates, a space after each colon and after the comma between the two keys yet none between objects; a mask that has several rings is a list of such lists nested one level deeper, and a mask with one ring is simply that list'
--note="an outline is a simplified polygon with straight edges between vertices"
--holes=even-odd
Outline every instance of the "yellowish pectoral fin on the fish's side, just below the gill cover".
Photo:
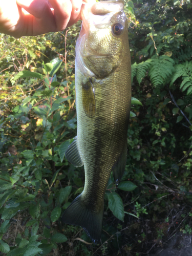
[{"label": "yellowish pectoral fin on the fish's side, just below the gill cover", "polygon": [[90,118],[95,116],[95,92],[91,78],[86,82],[82,82],[82,105],[86,115]]}]

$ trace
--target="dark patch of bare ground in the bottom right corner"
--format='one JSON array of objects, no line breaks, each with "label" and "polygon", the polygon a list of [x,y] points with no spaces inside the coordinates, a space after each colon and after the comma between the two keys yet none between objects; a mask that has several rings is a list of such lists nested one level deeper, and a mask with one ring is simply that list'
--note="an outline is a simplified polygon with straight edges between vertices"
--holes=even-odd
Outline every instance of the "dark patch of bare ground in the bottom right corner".
[{"label": "dark patch of bare ground in the bottom right corner", "polygon": [[149,256],[192,256],[191,239],[191,234],[179,232],[167,241],[165,248],[160,248],[155,254],[149,254]]}]

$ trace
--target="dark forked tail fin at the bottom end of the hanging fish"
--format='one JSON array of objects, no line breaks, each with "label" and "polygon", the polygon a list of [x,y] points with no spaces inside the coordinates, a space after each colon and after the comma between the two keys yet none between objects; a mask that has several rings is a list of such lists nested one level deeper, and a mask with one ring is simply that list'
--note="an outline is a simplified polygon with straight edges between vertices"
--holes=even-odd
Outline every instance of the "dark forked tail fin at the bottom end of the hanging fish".
[{"label": "dark forked tail fin at the bottom end of the hanging fish", "polygon": [[[103,202],[104,206],[104,202]],[[75,198],[62,215],[62,222],[70,225],[79,225],[97,245],[101,239],[103,208],[94,212],[84,204],[81,195]]]}]

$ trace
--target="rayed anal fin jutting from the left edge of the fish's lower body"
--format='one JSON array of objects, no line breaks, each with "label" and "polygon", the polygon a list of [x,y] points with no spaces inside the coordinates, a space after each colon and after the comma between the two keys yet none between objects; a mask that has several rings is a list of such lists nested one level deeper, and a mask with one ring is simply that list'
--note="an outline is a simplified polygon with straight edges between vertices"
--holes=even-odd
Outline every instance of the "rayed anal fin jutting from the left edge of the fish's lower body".
[{"label": "rayed anal fin jutting from the left edge of the fish's lower body", "polygon": [[77,137],[75,137],[74,141],[69,145],[66,151],[66,158],[75,167],[81,167],[83,165],[83,162],[81,160],[78,147],[77,147]]}]

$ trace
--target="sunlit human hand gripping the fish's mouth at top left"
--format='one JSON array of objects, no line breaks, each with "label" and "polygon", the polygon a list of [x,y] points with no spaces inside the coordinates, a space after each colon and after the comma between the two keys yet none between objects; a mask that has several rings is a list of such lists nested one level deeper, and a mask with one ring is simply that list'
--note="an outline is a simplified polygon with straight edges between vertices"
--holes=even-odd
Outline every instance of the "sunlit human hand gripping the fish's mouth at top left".
[{"label": "sunlit human hand gripping the fish's mouth at top left", "polygon": [[19,38],[64,30],[78,21],[81,5],[82,0],[1,1],[0,33]]}]

